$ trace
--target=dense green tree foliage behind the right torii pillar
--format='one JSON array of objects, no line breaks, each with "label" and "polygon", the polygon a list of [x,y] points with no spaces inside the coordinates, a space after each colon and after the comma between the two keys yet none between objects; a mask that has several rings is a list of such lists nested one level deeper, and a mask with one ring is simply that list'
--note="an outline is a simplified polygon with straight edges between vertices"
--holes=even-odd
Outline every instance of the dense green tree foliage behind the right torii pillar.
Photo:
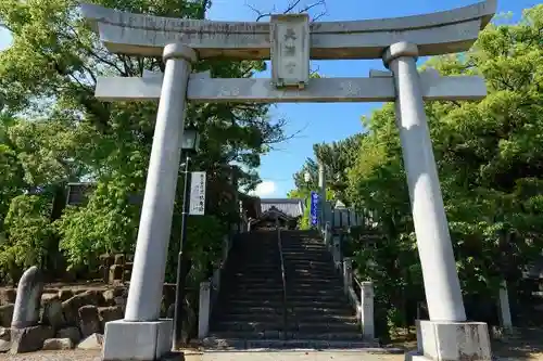
[{"label": "dense green tree foliage behind the right torii pillar", "polygon": [[[489,88],[481,102],[426,105],[471,319],[490,317],[477,312],[473,297],[489,300],[504,278],[518,285],[522,268],[541,253],[542,28],[538,5],[518,24],[489,26],[469,52],[433,57],[424,66],[443,75],[480,74]],[[376,249],[361,250],[357,267],[376,280],[380,307],[404,313],[389,312],[389,321],[399,324],[409,305],[396,300],[422,300],[422,294],[393,107],[375,112],[365,125],[368,133],[348,192],[358,209],[375,211],[384,240]]]}]

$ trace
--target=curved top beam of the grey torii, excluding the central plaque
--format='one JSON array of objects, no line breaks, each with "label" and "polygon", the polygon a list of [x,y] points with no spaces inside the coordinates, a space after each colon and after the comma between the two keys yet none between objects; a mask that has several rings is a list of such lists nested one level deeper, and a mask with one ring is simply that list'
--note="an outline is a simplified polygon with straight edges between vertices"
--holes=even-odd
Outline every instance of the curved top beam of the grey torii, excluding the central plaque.
[{"label": "curved top beam of the grey torii, excluding the central plaque", "polygon": [[[81,4],[101,41],[114,53],[161,56],[171,42],[182,42],[201,59],[269,59],[270,24],[214,22],[132,14]],[[379,59],[392,43],[419,46],[419,55],[466,51],[496,11],[496,0],[425,15],[311,24],[311,57]]]}]

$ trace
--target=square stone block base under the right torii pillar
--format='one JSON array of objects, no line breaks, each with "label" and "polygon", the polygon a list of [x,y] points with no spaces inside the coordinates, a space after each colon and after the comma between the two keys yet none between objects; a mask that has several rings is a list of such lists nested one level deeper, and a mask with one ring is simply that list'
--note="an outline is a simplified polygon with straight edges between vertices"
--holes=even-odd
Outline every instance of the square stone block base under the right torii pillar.
[{"label": "square stone block base under the right torii pillar", "polygon": [[490,361],[489,328],[484,322],[417,321],[417,351],[406,361]]}]

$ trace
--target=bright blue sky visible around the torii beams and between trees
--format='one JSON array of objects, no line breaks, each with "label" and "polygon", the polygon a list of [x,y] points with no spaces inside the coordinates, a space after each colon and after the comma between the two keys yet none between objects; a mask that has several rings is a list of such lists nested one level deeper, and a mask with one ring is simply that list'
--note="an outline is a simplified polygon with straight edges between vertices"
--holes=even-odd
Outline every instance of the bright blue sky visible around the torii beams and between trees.
[{"label": "bright blue sky visible around the torii beams and between trees", "polygon": [[[288,0],[212,0],[207,14],[211,20],[254,21],[251,7],[270,11],[286,9]],[[303,1],[302,1],[303,2]],[[315,2],[315,1],[313,1]],[[394,17],[424,14],[468,5],[477,0],[327,0],[326,16],[323,21],[352,21],[379,17]],[[498,0],[498,13],[512,12],[513,18],[520,17],[522,9],[538,4],[539,0]],[[306,1],[305,3],[312,3]],[[317,11],[323,10],[319,8]],[[9,34],[0,30],[0,49],[9,46]],[[368,76],[369,69],[382,69],[376,61],[321,61],[312,62],[312,67],[326,77]],[[263,75],[267,76],[267,75]],[[369,115],[379,107],[378,103],[338,104],[278,104],[273,107],[274,117],[287,119],[287,134],[295,138],[278,144],[274,151],[263,156],[260,169],[263,183],[257,194],[263,197],[282,197],[293,188],[292,175],[300,169],[306,157],[313,156],[313,144],[342,140],[363,130],[361,116]]]}]

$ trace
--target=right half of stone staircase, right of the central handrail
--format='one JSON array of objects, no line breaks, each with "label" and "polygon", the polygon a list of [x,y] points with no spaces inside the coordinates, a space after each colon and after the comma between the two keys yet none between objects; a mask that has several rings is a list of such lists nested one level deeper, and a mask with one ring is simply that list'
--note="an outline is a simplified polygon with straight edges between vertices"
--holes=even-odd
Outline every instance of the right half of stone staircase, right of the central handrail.
[{"label": "right half of stone staircase, right of the central handrail", "polygon": [[287,307],[294,339],[361,340],[353,307],[316,232],[281,232]]}]

